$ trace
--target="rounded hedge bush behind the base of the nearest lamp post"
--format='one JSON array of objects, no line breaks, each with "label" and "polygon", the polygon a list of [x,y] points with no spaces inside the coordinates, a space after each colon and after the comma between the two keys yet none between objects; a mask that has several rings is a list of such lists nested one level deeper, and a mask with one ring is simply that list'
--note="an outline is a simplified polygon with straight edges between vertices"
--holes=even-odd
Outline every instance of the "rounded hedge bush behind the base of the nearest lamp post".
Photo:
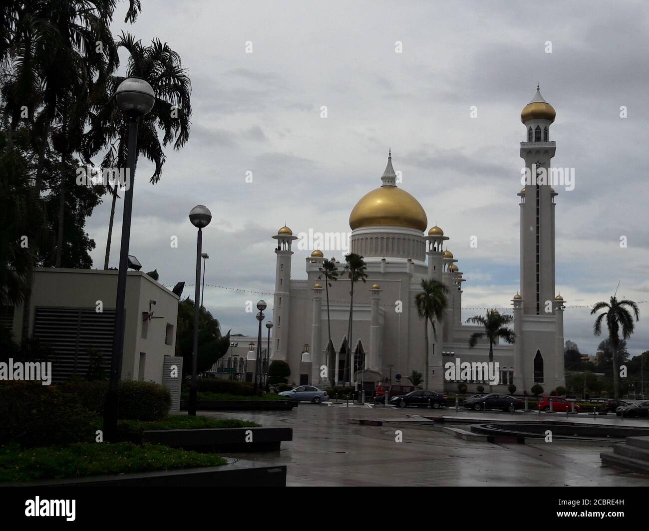
[{"label": "rounded hedge bush behind the base of the nearest lamp post", "polygon": [[[76,397],[82,406],[102,415],[108,395],[108,382],[69,380],[62,384],[64,393]],[[157,421],[171,408],[169,389],[153,382],[119,382],[119,411],[117,418],[138,421]]]}]

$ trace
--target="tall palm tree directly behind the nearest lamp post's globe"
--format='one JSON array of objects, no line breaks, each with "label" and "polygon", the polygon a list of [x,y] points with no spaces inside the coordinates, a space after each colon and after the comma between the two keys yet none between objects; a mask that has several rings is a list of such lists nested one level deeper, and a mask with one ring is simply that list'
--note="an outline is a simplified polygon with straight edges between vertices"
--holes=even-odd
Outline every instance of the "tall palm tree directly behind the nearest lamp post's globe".
[{"label": "tall palm tree directly behind the nearest lamp post's globe", "polygon": [[[131,34],[122,33],[117,40],[117,47],[123,47],[129,52],[127,77],[141,77],[147,80],[156,97],[153,109],[141,119],[138,127],[138,156],[143,154],[154,163],[155,169],[149,182],[155,184],[160,180],[165,162],[162,147],[173,142],[174,149],[178,150],[185,145],[190,136],[191,81],[187,69],[182,67],[178,53],[159,39],[154,39],[151,45],[144,46]],[[117,86],[124,79],[125,77],[119,76],[108,79],[108,90],[95,105],[91,119],[92,127],[85,140],[84,153],[88,162],[91,156],[106,151],[102,163],[104,168],[126,167],[129,145],[127,120],[122,116],[113,97]],[[162,144],[158,138],[158,129],[164,132]],[[109,186],[108,190],[112,193],[112,205],[104,269],[108,268],[110,256],[117,186]]]}]

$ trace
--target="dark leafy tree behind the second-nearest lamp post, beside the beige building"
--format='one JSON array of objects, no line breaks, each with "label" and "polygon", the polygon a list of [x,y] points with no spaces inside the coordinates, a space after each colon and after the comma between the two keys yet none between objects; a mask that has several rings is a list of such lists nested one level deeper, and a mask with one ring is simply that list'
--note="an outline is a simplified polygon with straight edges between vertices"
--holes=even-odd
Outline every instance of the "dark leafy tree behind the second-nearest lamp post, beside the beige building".
[{"label": "dark leafy tree behind the second-nearest lamp post, beside the beige building", "polygon": [[[194,338],[194,301],[189,297],[178,303],[176,355],[182,356],[183,375],[191,374]],[[230,349],[230,331],[221,335],[219,321],[203,306],[199,308],[199,351],[196,372],[207,371]]]}]

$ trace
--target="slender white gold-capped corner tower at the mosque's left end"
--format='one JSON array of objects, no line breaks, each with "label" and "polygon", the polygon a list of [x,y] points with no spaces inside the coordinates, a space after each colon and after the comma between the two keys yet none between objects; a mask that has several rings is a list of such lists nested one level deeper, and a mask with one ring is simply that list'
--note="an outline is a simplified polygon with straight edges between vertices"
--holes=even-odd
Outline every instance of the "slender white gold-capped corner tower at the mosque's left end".
[{"label": "slender white gold-capped corner tower at the mosque's left end", "polygon": [[275,254],[277,265],[275,269],[275,297],[273,298],[273,360],[286,360],[288,348],[289,308],[291,303],[291,243],[297,240],[293,231],[286,227],[280,228],[273,236],[277,240]]}]

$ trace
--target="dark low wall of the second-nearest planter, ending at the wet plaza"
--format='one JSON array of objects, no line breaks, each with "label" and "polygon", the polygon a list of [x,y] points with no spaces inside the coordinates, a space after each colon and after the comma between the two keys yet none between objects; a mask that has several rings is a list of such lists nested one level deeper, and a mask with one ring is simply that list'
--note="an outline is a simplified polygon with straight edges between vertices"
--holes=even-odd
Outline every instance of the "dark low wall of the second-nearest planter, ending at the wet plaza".
[{"label": "dark low wall of the second-nearest planter, ending at the wet plaza", "polygon": [[[252,436],[251,442],[246,438]],[[199,428],[195,430],[147,430],[143,443],[197,452],[262,452],[279,450],[282,441],[293,440],[293,428]]]}]

